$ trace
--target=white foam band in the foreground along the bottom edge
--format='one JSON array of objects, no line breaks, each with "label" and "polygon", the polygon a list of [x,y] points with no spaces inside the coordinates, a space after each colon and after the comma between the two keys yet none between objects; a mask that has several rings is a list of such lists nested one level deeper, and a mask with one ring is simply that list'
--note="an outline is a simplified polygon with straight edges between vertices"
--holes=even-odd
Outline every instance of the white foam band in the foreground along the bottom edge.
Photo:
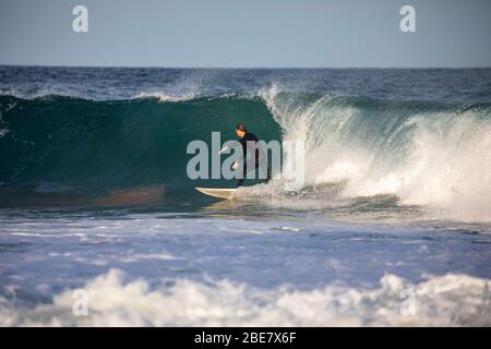
[{"label": "white foam band in the foreground along the bottom edge", "polygon": [[333,284],[312,290],[268,290],[229,280],[189,279],[152,288],[144,279],[127,281],[122,272],[111,269],[84,287],[88,316],[72,314],[73,292],[67,290],[34,309],[15,309],[0,299],[0,325],[490,326],[490,287],[491,280],[467,275],[411,285],[387,274],[374,289]]}]

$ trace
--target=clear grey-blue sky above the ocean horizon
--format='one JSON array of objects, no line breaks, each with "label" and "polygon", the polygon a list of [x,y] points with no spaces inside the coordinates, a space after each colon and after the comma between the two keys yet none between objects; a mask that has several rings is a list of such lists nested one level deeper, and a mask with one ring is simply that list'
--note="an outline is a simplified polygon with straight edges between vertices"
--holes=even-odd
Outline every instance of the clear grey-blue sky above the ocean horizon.
[{"label": "clear grey-blue sky above the ocean horizon", "polygon": [[0,0],[0,64],[491,67],[491,0]]}]

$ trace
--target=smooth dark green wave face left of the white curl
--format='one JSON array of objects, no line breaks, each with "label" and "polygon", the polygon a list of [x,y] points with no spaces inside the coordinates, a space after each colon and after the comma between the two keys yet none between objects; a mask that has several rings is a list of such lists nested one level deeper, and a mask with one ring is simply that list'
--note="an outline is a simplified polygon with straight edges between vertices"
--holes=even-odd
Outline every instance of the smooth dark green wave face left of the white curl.
[{"label": "smooth dark green wave face left of the white curl", "polygon": [[[265,141],[278,124],[260,99],[224,97],[181,103],[92,101],[69,97],[0,97],[0,205],[84,203],[113,190],[164,185],[168,194],[200,181],[185,173],[193,140],[236,139],[239,122]],[[224,183],[217,183],[224,185]],[[16,194],[12,190],[16,189]],[[7,192],[7,194],[5,194]],[[49,194],[49,195],[48,195]],[[64,196],[63,196],[64,195]]]}]

